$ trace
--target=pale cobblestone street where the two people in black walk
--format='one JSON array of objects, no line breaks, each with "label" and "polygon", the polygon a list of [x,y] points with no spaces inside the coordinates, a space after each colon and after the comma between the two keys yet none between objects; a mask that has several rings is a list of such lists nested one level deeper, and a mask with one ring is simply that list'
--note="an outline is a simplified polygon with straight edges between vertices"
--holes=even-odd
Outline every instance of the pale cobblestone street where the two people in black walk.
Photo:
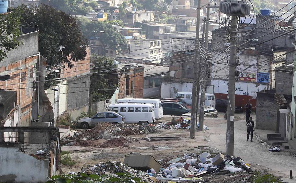
[{"label": "pale cobblestone street where the two people in black walk", "polygon": [[[206,133],[205,138],[211,147],[225,152],[226,119],[217,118],[214,121],[210,119],[206,121],[205,125],[210,130]],[[284,182],[296,182],[296,157],[284,155],[284,152],[269,152],[269,146],[263,144],[256,137],[256,130],[253,142],[246,141],[247,128],[245,120],[235,121],[234,135],[234,156],[240,156],[251,164],[258,163],[264,169],[272,171],[275,175],[282,176]],[[290,170],[293,170],[294,179],[289,179]]]}]

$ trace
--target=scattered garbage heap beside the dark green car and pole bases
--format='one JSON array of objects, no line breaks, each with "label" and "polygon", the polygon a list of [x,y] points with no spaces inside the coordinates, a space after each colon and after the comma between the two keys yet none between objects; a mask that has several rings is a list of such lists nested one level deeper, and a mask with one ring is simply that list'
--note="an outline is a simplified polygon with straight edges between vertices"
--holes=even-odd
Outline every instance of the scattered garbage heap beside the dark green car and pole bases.
[{"label": "scattered garbage heap beside the dark green car and pole bases", "polygon": [[[182,118],[182,117],[173,117],[171,122],[157,124],[155,126],[158,129],[190,129],[190,118]],[[197,122],[196,128],[199,127],[199,123]],[[209,130],[209,128],[204,125],[204,130]]]}]

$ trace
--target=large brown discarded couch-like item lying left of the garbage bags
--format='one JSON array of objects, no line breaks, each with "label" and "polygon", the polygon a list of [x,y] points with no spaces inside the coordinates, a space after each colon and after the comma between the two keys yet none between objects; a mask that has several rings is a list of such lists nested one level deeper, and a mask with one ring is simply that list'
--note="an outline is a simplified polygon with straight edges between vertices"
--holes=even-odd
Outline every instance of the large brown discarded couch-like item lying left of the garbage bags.
[{"label": "large brown discarded couch-like item lying left of the garbage bags", "polygon": [[159,172],[161,164],[155,160],[151,155],[134,155],[126,156],[123,161],[124,164],[129,167],[139,169],[139,170],[148,170],[153,168],[155,172]]}]

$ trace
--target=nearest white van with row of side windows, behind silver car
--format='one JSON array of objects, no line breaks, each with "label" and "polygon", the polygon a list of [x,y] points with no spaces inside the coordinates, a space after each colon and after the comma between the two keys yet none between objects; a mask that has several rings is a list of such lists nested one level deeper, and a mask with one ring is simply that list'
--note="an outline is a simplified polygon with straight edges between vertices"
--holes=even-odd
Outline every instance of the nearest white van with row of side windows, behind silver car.
[{"label": "nearest white van with row of side windows, behind silver car", "polygon": [[107,111],[125,116],[125,123],[153,123],[155,121],[153,104],[110,104]]}]

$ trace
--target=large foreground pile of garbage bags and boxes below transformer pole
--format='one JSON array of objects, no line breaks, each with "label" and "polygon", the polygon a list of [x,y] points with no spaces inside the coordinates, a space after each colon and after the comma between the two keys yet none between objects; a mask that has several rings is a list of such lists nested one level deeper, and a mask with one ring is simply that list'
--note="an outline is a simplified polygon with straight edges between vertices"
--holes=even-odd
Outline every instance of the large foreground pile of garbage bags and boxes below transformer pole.
[{"label": "large foreground pile of garbage bags and boxes below transformer pole", "polygon": [[184,154],[184,156],[173,158],[162,163],[164,166],[159,174],[153,174],[158,180],[178,180],[202,177],[206,174],[224,175],[238,171],[252,172],[248,163],[240,157],[234,157],[221,153],[211,157],[208,152],[199,156],[196,154]]}]

